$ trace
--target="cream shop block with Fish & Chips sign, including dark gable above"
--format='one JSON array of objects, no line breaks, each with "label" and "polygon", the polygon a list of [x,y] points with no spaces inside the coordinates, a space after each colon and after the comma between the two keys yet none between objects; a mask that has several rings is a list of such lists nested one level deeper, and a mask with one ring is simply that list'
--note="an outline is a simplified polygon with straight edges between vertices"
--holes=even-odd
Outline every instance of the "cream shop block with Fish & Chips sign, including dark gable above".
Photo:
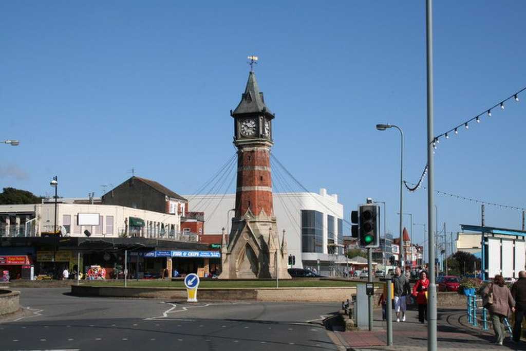
[{"label": "cream shop block with Fish & Chips sign, including dark gable above", "polygon": [[182,274],[219,273],[219,248],[199,243],[203,214],[187,212],[186,206],[175,192],[135,176],[100,200],[0,205],[0,265],[9,263],[11,277],[24,263],[45,277],[57,278],[66,267],[75,272],[80,267],[84,274],[98,267],[101,277],[122,278],[125,261],[128,275],[137,278],[170,277],[173,268]]}]

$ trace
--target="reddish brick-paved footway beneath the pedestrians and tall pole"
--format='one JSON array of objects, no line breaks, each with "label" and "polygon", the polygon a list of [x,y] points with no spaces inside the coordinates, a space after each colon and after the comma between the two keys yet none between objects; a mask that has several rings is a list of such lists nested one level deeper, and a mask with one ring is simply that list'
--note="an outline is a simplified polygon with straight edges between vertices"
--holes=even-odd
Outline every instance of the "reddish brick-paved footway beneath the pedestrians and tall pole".
[{"label": "reddish brick-paved footway beneath the pedestrians and tall pole", "polygon": [[[337,334],[350,350],[427,350],[427,325],[418,322],[417,314],[416,310],[408,310],[406,322],[393,322],[393,346],[390,347],[386,346],[386,322],[382,322],[378,311],[375,312],[372,332],[360,330]],[[470,327],[463,309],[439,310],[437,329],[438,348],[441,350],[526,350],[526,342],[516,345],[509,336],[505,338],[504,346],[494,345],[493,332]]]}]

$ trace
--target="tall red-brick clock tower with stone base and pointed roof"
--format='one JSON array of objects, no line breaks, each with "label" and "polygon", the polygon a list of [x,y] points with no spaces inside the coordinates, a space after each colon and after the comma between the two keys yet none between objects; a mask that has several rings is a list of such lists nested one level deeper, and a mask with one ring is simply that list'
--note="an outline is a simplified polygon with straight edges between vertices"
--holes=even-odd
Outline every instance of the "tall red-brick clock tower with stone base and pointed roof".
[{"label": "tall red-brick clock tower with stone base and pointed roof", "polygon": [[245,93],[230,115],[238,149],[236,212],[228,246],[223,239],[219,277],[290,278],[285,235],[280,240],[272,206],[270,148],[274,145],[275,116],[265,105],[254,71],[250,71]]}]

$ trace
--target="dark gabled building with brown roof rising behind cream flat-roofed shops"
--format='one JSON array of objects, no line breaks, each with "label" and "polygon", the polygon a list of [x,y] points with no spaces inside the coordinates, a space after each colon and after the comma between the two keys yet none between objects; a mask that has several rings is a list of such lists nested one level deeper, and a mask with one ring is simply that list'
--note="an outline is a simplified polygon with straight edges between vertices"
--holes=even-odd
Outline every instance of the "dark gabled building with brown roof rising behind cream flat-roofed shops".
[{"label": "dark gabled building with brown roof rising behind cream flat-roofed shops", "polygon": [[187,199],[154,180],[133,176],[102,196],[104,205],[120,205],[185,216]]}]

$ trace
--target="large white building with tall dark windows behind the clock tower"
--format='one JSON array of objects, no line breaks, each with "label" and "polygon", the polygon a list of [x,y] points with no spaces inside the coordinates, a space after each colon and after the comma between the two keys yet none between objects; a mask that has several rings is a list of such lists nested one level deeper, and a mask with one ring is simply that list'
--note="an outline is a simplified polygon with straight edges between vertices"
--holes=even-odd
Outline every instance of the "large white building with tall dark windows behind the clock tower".
[{"label": "large white building with tall dark windows behind the clock tower", "polygon": [[[235,195],[184,195],[193,208],[199,202],[210,203],[208,206],[217,210],[205,213],[206,233],[203,242],[214,236],[220,243],[221,229],[228,233],[231,228],[232,211],[235,206]],[[278,232],[285,230],[288,254],[295,256],[294,267],[310,268],[322,275],[342,273],[346,260],[343,253],[343,205],[338,202],[338,195],[328,194],[326,189],[319,193],[272,193],[274,215],[278,223]],[[331,247],[337,244],[339,250],[329,254]],[[319,260],[319,264],[318,264]],[[338,263],[340,272],[334,272]],[[289,266],[290,267],[290,266]],[[318,269],[319,267],[319,269]]]}]

